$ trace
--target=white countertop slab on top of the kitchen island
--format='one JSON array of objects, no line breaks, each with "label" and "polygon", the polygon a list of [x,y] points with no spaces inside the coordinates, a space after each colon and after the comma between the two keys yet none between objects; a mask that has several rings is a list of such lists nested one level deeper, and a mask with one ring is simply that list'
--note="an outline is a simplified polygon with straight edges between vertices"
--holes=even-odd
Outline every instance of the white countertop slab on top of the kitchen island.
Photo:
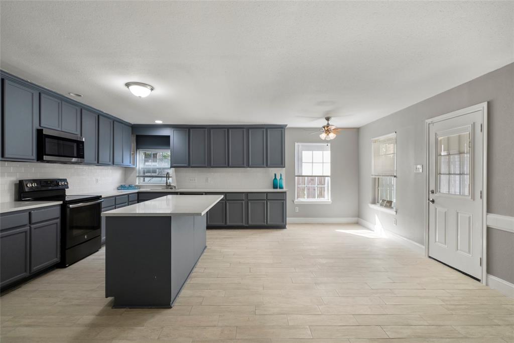
[{"label": "white countertop slab on top of the kitchen island", "polygon": [[204,215],[222,198],[222,195],[167,195],[102,212],[102,216]]}]

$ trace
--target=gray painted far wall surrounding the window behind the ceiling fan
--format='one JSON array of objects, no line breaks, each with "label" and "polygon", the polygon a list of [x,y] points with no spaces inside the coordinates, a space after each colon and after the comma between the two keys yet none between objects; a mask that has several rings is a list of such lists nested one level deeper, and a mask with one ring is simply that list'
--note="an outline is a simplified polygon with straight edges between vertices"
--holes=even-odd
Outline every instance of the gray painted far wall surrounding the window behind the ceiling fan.
[{"label": "gray painted far wall surrounding the window behind the ceiling fan", "polygon": [[[320,125],[321,125],[320,121]],[[321,143],[318,135],[299,128],[286,128],[286,177],[288,218],[357,218],[359,168],[358,130],[343,130],[331,143],[331,195],[329,205],[295,205],[295,143]],[[295,212],[298,207],[299,212]]]}]

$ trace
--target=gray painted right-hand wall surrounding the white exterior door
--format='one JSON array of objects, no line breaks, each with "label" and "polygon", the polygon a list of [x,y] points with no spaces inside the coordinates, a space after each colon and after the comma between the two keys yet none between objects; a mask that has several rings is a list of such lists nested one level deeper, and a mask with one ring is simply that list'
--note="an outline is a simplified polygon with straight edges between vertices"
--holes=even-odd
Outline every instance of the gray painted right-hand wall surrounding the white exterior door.
[{"label": "gray painted right-hand wall surrounding the white exterior door", "polygon": [[[400,95],[401,96],[401,95]],[[488,213],[514,216],[514,63],[359,128],[359,218],[419,244],[426,206],[425,120],[488,101]],[[397,132],[397,225],[368,206],[373,196],[371,139]],[[414,165],[423,164],[423,173]],[[514,283],[514,234],[489,229],[488,273]],[[508,245],[510,242],[510,245]],[[510,263],[509,263],[510,262]]]}]

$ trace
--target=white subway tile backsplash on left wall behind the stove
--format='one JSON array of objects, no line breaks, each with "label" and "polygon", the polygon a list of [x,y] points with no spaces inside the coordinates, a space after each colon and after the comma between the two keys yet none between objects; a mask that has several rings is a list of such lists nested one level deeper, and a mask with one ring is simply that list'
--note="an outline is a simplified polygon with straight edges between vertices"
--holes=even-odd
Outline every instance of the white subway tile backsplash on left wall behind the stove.
[{"label": "white subway tile backsplash on left wall behind the stove", "polygon": [[67,178],[68,194],[115,190],[125,183],[125,169],[132,168],[2,161],[0,202],[17,200],[18,180],[27,178]]}]

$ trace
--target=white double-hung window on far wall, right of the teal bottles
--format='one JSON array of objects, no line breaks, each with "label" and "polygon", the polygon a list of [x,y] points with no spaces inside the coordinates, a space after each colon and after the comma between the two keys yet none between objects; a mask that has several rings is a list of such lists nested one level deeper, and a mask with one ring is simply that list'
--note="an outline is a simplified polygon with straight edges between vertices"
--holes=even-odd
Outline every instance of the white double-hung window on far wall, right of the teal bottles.
[{"label": "white double-hung window on far wall, right of the teal bottles", "polygon": [[296,143],[296,202],[329,202],[330,144]]}]

